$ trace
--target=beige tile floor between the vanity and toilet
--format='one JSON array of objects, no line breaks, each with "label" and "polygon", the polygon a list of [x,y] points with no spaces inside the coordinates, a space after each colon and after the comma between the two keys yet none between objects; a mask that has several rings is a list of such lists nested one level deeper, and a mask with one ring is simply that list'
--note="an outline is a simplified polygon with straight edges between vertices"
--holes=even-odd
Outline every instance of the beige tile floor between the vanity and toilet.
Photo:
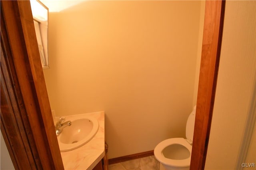
[{"label": "beige tile floor between the vanity and toilet", "polygon": [[109,170],[164,170],[164,167],[154,156],[128,160],[108,165]]}]

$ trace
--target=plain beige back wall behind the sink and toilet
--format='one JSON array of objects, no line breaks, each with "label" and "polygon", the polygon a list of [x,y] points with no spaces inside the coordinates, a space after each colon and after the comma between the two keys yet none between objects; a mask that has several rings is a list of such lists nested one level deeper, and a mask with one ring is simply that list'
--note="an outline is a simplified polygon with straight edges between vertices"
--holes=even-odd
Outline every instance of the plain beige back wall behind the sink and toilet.
[{"label": "plain beige back wall behind the sink and toilet", "polygon": [[83,1],[50,12],[44,75],[52,110],[57,116],[104,110],[109,158],[185,137],[201,4]]}]

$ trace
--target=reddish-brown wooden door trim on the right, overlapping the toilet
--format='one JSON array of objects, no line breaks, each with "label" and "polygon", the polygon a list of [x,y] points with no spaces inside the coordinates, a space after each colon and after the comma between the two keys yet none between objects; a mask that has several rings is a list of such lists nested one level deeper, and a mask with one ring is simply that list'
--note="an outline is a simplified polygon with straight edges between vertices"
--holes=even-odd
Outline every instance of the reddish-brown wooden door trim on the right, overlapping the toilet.
[{"label": "reddish-brown wooden door trim on the right, overlapping the toilet", "polygon": [[220,60],[224,10],[225,1],[206,1],[190,170],[203,170],[205,165]]}]

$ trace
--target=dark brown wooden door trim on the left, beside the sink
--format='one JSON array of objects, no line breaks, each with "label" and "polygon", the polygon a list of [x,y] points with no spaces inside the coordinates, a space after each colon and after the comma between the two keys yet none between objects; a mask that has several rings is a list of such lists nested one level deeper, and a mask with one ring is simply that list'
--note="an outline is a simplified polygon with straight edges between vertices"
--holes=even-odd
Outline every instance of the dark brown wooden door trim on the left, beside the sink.
[{"label": "dark brown wooden door trim on the left, beside the sink", "polygon": [[14,167],[64,170],[54,129],[30,2],[1,1],[1,131]]}]

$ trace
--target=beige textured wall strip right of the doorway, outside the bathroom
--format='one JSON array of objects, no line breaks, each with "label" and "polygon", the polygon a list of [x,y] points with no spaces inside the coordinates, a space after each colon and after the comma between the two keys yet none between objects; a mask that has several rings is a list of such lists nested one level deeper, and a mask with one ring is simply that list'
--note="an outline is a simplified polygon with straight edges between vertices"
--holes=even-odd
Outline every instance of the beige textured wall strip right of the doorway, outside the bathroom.
[{"label": "beige textured wall strip right of the doorway, outside the bathroom", "polygon": [[[256,1],[226,1],[206,170],[236,169],[246,116],[255,102],[252,101],[256,78],[255,11]],[[251,144],[255,144],[255,137]],[[252,149],[250,152],[254,154],[249,152],[252,157],[247,160],[254,161],[244,163],[256,163],[255,146]]]}]

